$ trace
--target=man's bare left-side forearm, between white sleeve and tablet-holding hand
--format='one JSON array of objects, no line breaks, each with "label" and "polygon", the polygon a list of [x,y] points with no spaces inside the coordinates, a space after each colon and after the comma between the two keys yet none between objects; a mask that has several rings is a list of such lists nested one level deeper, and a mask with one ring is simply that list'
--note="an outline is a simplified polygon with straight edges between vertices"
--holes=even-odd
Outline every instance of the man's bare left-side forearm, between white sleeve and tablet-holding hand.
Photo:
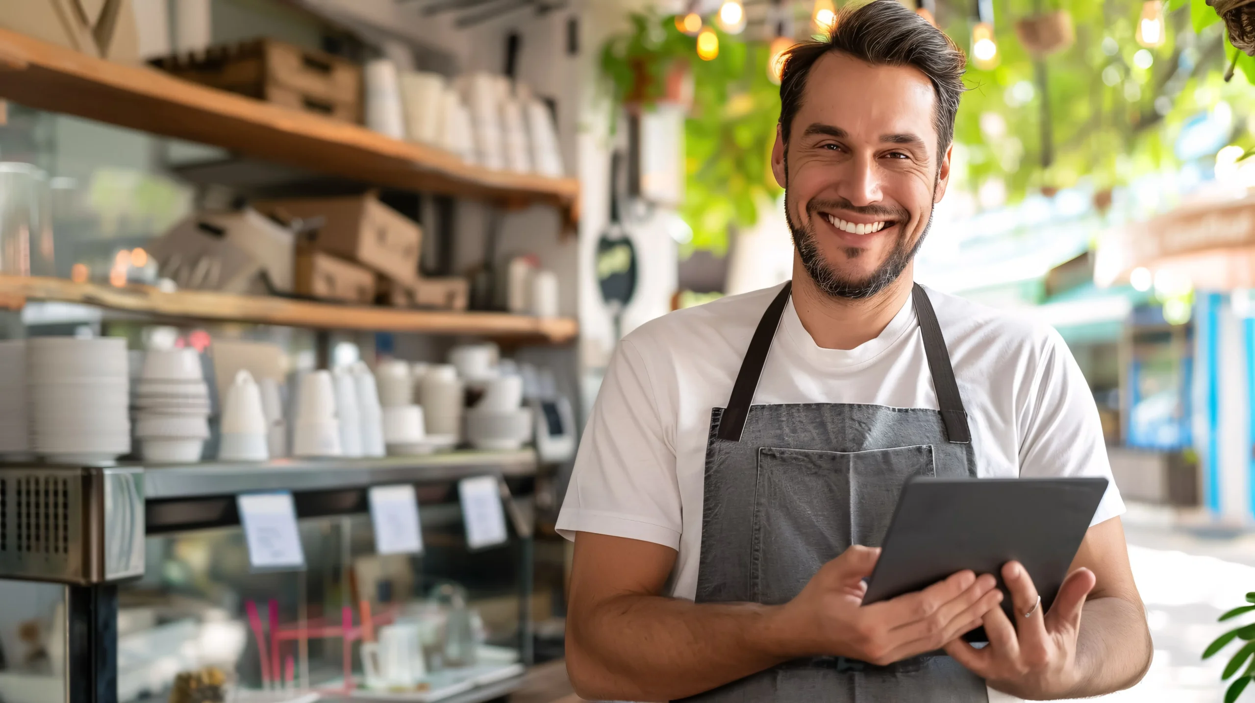
[{"label": "man's bare left-side forearm, between white sleeve and tablet-holding hand", "polygon": [[[567,669],[585,698],[670,700],[802,655],[782,607],[619,595],[576,618]],[[572,620],[569,620],[572,622]]]}]

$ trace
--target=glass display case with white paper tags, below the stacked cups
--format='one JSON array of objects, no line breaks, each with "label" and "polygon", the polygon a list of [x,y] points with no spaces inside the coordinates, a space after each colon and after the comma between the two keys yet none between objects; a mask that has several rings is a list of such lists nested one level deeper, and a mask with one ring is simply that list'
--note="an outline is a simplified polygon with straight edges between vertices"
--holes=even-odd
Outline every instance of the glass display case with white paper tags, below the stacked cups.
[{"label": "glass display case with white paper tags, below the stacked cups", "polygon": [[[531,450],[0,469],[0,700],[505,695],[531,659],[535,471]],[[291,544],[250,496],[291,506]]]}]

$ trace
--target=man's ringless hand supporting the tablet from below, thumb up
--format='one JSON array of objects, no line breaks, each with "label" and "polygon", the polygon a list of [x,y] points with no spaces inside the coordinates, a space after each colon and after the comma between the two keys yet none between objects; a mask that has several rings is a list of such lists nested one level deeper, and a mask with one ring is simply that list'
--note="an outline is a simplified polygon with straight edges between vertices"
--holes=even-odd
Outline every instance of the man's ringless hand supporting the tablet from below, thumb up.
[{"label": "man's ringless hand supporting the tablet from below, thumb up", "polygon": [[940,649],[976,628],[988,613],[1001,614],[1003,594],[994,588],[994,578],[971,571],[865,607],[863,578],[878,558],[880,549],[851,546],[820,568],[784,605],[781,620],[798,638],[799,654],[835,654],[885,665]]}]

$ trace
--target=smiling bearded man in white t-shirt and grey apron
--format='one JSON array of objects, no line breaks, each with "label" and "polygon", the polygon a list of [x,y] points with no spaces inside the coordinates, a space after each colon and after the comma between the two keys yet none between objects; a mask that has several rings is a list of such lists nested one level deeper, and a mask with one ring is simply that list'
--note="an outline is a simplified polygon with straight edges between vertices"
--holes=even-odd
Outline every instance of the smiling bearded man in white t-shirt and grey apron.
[{"label": "smiling bearded man in white t-shirt and grey apron", "polygon": [[1079,698],[1148,667],[1114,484],[1049,610],[1015,563],[1014,623],[970,571],[862,604],[910,477],[1111,477],[1054,331],[914,283],[964,66],[895,0],[791,51],[772,167],[792,281],[624,338],[580,446],[558,530],[585,698]]}]

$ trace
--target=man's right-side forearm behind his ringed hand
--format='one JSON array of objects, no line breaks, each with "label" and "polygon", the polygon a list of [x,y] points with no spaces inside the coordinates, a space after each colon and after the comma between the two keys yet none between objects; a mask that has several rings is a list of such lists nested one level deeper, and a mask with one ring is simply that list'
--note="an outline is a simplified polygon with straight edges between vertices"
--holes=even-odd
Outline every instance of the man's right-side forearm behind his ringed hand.
[{"label": "man's right-side forearm behind his ringed hand", "polygon": [[1130,688],[1150,668],[1152,649],[1146,613],[1140,603],[1116,596],[1087,600],[1077,637],[1082,683],[1068,697],[1102,695]]}]

